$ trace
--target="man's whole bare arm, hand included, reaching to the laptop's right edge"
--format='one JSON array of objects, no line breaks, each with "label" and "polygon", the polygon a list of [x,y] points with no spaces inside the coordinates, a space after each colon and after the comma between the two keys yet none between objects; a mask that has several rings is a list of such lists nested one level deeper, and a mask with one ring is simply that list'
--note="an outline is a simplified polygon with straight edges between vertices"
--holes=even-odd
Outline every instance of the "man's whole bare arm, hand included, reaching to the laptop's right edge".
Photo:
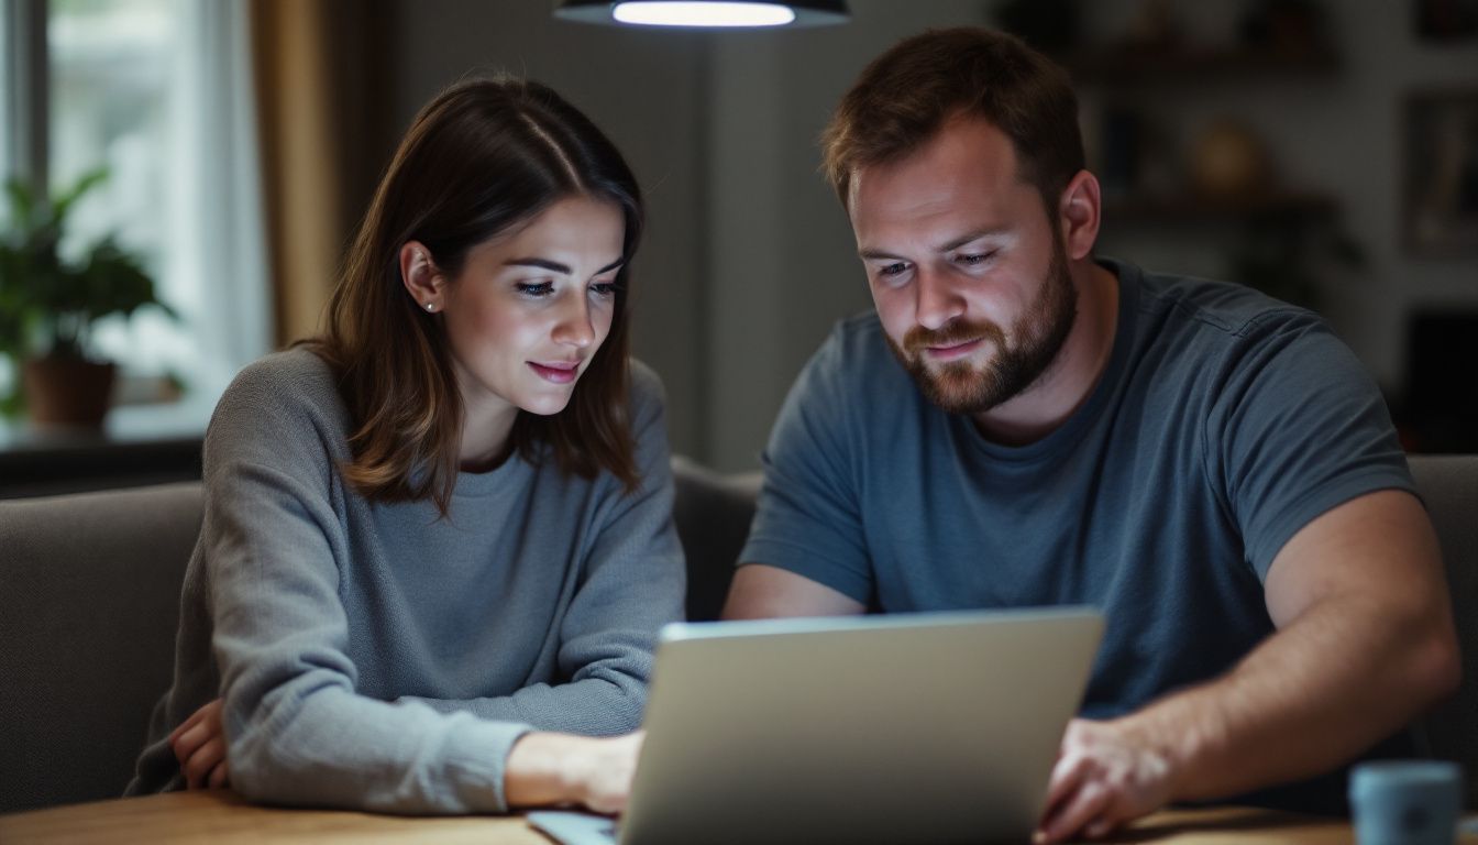
[{"label": "man's whole bare arm, hand included, reaching to the laptop's right edge", "polygon": [[1046,839],[1327,771],[1457,685],[1441,553],[1407,493],[1361,496],[1305,525],[1273,561],[1265,592],[1278,630],[1231,672],[1125,718],[1069,727]]}]

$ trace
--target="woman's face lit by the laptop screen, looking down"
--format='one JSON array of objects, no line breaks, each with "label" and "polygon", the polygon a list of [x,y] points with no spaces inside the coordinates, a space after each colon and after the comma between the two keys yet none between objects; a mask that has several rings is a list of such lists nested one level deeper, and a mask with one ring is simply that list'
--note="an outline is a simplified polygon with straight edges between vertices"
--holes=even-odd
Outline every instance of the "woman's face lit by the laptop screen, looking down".
[{"label": "woman's face lit by the laptop screen, looking down", "polygon": [[624,235],[619,206],[568,197],[467,253],[439,308],[469,419],[569,404],[610,333]]}]

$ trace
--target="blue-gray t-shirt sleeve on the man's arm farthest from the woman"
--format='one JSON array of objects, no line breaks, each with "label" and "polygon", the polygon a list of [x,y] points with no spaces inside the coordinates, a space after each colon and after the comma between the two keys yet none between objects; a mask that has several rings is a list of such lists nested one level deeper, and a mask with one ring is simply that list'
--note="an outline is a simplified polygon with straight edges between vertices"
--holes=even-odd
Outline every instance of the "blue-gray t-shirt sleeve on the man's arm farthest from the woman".
[{"label": "blue-gray t-shirt sleeve on the man's arm farthest from the woman", "polygon": [[1203,442],[1259,579],[1332,508],[1376,490],[1414,493],[1375,380],[1307,312],[1270,312],[1242,329]]}]

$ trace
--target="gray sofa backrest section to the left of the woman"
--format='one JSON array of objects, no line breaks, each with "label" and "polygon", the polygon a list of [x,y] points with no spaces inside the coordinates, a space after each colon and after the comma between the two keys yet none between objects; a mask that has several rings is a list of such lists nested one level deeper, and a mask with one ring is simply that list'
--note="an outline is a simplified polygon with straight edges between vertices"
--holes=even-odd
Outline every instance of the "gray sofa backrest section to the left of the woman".
[{"label": "gray sofa backrest section to the left of the woman", "polygon": [[123,793],[200,519],[198,482],[0,502],[0,812]]}]

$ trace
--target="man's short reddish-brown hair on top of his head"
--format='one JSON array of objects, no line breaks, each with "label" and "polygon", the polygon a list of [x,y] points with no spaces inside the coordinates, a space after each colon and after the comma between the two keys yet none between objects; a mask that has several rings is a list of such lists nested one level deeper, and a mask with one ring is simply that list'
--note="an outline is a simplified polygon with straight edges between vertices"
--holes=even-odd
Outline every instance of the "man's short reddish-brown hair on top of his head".
[{"label": "man's short reddish-brown hair on top of his head", "polygon": [[1072,83],[1015,37],[974,27],[905,38],[862,71],[822,133],[822,170],[842,206],[859,167],[907,155],[956,114],[981,117],[1011,139],[1018,178],[1054,213],[1083,169]]}]

